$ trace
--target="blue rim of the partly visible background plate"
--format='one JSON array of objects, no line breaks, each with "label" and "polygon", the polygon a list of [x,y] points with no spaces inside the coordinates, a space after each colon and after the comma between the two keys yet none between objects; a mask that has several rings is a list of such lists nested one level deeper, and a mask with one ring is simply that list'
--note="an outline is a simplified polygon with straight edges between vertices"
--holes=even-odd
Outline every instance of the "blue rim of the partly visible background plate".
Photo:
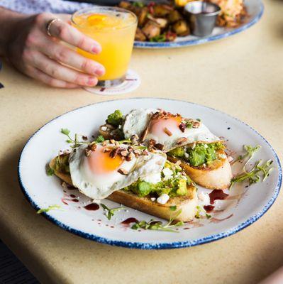
[{"label": "blue rim of the partly visible background plate", "polygon": [[257,16],[253,18],[252,21],[245,23],[243,26],[240,26],[238,28],[233,28],[231,31],[227,31],[226,33],[221,33],[221,35],[211,35],[206,38],[195,38],[179,42],[170,41],[165,43],[150,43],[148,41],[135,41],[133,46],[134,48],[184,48],[189,45],[200,45],[204,43],[209,43],[210,41],[221,40],[222,38],[228,38],[231,35],[235,35],[236,33],[245,31],[246,29],[250,28],[258,21],[260,21],[263,11],[265,10],[265,7],[262,1],[259,0],[259,2],[260,2],[260,13],[258,13]]}]

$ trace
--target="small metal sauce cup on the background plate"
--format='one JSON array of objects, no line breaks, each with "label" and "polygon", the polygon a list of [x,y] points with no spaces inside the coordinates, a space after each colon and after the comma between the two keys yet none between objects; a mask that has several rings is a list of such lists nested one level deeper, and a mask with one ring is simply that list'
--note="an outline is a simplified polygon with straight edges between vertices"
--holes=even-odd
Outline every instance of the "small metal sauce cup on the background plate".
[{"label": "small metal sauce cup on the background plate", "polygon": [[192,1],[184,6],[184,11],[189,17],[191,33],[197,36],[206,36],[212,33],[221,8],[209,2]]}]

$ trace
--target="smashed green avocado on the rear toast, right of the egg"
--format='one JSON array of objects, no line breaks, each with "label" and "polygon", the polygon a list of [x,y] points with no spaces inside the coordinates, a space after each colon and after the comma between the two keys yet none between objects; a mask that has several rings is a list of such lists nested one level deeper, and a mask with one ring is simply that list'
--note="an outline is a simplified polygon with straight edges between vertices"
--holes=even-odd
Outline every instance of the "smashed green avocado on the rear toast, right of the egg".
[{"label": "smashed green avocado on the rear toast, right of the egg", "polygon": [[[221,142],[216,143],[198,143],[194,148],[179,147],[170,151],[168,154],[176,158],[186,160],[190,165],[198,167],[199,165],[208,164],[218,158],[217,151],[224,149]],[[187,153],[187,154],[186,154]]]}]

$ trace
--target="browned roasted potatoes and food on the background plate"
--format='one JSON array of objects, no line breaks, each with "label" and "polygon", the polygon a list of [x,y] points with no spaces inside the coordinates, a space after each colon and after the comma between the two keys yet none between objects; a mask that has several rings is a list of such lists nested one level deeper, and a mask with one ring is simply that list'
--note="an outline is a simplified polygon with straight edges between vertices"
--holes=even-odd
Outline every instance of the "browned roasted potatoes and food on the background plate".
[{"label": "browned roasted potatoes and food on the background plate", "polygon": [[[170,1],[170,4],[157,4],[154,1],[145,5],[141,1],[121,1],[119,7],[128,9],[138,16],[137,41],[174,41],[177,36],[189,35],[187,15],[184,5],[189,0]],[[235,28],[243,23],[247,15],[243,0],[209,0],[221,8],[217,25]]]}]

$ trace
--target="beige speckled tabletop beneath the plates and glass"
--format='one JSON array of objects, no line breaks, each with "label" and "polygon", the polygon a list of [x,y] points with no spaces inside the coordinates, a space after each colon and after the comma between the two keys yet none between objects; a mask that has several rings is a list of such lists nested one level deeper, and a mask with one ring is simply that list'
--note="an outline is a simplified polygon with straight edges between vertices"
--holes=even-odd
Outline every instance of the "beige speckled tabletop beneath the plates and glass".
[{"label": "beige speckled tabletop beneath the plates and glass", "polygon": [[[98,244],[51,224],[23,197],[18,157],[55,116],[108,99],[166,97],[220,109],[260,131],[282,160],[283,2],[265,1],[262,20],[206,45],[134,50],[142,79],[131,94],[102,97],[52,89],[4,63],[0,72],[0,239],[42,283],[257,283],[283,265],[282,194],[252,226],[187,249],[140,251]],[[118,105],[117,105],[118,107]]]}]

